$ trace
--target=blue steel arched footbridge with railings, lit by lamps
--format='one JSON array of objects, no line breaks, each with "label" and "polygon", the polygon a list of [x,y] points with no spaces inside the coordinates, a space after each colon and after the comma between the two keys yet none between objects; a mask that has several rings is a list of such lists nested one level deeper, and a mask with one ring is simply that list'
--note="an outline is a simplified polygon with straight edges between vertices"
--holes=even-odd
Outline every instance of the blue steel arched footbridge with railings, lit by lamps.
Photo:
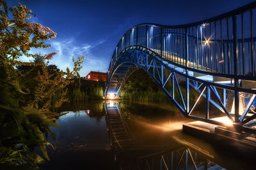
[{"label": "blue steel arched footbridge with railings, lit by lamps", "polygon": [[[227,126],[209,116],[212,104],[238,131],[255,133],[255,41],[256,2],[192,24],[136,25],[116,45],[104,96],[119,97],[125,80],[143,69],[185,117]],[[204,117],[193,112],[200,99]]]}]

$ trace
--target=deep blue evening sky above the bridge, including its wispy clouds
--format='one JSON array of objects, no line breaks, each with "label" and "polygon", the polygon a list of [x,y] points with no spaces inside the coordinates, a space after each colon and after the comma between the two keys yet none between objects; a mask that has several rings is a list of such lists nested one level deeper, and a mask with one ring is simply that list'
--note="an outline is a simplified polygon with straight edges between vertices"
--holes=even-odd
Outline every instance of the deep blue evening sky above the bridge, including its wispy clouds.
[{"label": "deep blue evening sky above the bridge, including its wispy clouds", "polygon": [[[108,71],[115,46],[132,26],[151,22],[188,24],[214,17],[253,2],[252,0],[6,0],[18,2],[36,14],[31,19],[57,33],[52,47],[32,52],[58,52],[51,60],[61,69],[72,67],[72,56],[85,55],[81,76],[89,71]],[[24,59],[28,60],[28,59]]]}]

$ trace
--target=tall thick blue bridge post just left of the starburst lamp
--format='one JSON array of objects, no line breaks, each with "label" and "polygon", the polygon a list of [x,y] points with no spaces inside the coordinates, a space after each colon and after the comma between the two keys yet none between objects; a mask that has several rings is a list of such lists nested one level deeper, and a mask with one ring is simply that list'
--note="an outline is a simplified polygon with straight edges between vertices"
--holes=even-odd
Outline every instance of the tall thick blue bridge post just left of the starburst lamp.
[{"label": "tall thick blue bridge post just left of the starburst lamp", "polygon": [[185,28],[185,55],[186,55],[186,113],[189,113],[189,78],[188,78],[188,57],[189,57],[189,45],[188,45],[188,28]]}]

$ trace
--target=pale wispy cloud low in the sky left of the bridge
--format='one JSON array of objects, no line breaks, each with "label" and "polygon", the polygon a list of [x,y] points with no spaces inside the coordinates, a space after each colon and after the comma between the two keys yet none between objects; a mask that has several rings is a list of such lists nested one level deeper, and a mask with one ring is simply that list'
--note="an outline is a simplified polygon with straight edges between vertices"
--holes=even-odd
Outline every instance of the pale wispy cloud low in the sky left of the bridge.
[{"label": "pale wispy cloud low in the sky left of the bridge", "polygon": [[[75,39],[63,39],[61,41],[52,41],[51,48],[47,49],[37,49],[33,48],[30,50],[31,53],[41,53],[44,55],[45,53],[57,52],[54,55],[54,58],[50,60],[50,64],[55,64],[63,71],[68,67],[69,69],[73,68],[72,57],[79,57],[79,55],[84,55],[86,58],[84,60],[83,69],[81,69],[81,76],[86,76],[90,71],[107,71],[108,63],[106,63],[106,59],[102,56],[96,56],[93,53],[95,47],[104,43],[106,39],[100,39],[99,41],[95,41],[93,43],[84,43],[83,45],[77,45]],[[33,60],[33,58],[28,57],[20,57],[20,60],[28,62],[29,60]]]}]

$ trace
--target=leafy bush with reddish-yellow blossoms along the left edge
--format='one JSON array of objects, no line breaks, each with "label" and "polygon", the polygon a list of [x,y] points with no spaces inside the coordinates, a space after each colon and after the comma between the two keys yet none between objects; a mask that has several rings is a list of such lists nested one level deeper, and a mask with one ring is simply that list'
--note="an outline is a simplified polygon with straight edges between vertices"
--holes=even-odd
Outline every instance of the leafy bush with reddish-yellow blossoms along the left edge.
[{"label": "leafy bush with reddish-yellow blossoms along the left edge", "polygon": [[[55,138],[49,126],[58,127],[54,121],[60,116],[54,110],[67,101],[65,87],[74,74],[79,76],[84,56],[73,59],[73,71],[49,65],[56,52],[40,55],[29,50],[48,48],[45,41],[56,33],[29,22],[35,15],[26,6],[8,9],[4,0],[0,4],[0,168],[36,169],[44,159],[34,153],[35,147],[49,160],[48,134]],[[34,62],[20,62],[21,56],[33,57]]]}]

